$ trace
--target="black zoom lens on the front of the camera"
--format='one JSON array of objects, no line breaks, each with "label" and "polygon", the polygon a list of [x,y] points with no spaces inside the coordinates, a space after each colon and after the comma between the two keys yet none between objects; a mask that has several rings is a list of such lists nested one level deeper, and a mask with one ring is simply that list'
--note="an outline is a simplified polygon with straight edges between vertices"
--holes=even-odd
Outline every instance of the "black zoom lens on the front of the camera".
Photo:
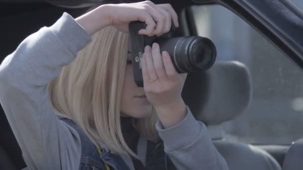
[{"label": "black zoom lens on the front of the camera", "polygon": [[215,62],[216,48],[211,40],[199,36],[158,38],[160,51],[167,51],[178,73],[207,70]]}]

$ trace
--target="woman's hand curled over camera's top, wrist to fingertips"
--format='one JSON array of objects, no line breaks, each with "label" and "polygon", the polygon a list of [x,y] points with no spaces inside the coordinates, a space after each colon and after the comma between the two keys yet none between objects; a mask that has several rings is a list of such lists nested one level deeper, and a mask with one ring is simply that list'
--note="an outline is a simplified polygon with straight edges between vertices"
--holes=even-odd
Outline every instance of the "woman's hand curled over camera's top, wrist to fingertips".
[{"label": "woman's hand curled over camera's top, wrist to fingertips", "polygon": [[139,34],[149,36],[161,35],[170,30],[171,21],[178,27],[178,16],[170,4],[154,4],[152,1],[138,3],[121,3],[111,5],[111,22],[120,31],[127,32],[130,21],[142,21],[147,24],[146,29]]}]

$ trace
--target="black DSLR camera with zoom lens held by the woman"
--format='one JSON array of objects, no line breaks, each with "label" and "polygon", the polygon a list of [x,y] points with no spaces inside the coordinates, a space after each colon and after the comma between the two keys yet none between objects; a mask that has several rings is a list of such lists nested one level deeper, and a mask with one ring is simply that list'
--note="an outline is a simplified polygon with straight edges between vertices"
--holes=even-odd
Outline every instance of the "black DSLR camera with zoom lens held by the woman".
[{"label": "black DSLR camera with zoom lens held by the woman", "polygon": [[199,36],[172,37],[174,27],[168,33],[159,37],[139,35],[140,29],[146,28],[146,23],[133,21],[129,25],[132,43],[132,64],[134,80],[139,87],[143,87],[142,55],[147,45],[153,42],[159,44],[160,52],[167,51],[174,68],[178,73],[194,73],[207,70],[215,62],[216,47],[211,40]]}]

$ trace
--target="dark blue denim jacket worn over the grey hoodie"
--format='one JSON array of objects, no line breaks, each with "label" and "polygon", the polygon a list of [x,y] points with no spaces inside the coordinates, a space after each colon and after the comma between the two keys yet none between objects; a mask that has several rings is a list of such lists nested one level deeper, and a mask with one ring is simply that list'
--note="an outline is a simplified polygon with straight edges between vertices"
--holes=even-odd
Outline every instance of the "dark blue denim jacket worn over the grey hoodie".
[{"label": "dark blue denim jacket worn over the grey hoodie", "polygon": [[[96,146],[89,140],[82,129],[72,120],[61,118],[71,127],[73,127],[79,134],[81,139],[81,158],[79,170],[107,170],[106,165],[111,170],[130,170],[124,160],[116,154],[102,149],[99,155]],[[147,157],[146,170],[175,170],[174,165],[164,152],[163,142],[153,143],[147,142]]]}]

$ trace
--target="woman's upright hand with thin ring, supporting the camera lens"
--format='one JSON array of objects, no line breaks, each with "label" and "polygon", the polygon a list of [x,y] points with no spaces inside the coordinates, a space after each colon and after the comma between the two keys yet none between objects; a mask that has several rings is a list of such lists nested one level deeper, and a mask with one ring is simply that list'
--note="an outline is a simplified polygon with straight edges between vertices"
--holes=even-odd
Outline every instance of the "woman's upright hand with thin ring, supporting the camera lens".
[{"label": "woman's upright hand with thin ring, supporting the camera lens", "polygon": [[155,108],[164,128],[172,127],[184,119],[186,105],[181,97],[187,74],[178,74],[166,51],[159,45],[146,46],[142,61],[144,90]]}]

